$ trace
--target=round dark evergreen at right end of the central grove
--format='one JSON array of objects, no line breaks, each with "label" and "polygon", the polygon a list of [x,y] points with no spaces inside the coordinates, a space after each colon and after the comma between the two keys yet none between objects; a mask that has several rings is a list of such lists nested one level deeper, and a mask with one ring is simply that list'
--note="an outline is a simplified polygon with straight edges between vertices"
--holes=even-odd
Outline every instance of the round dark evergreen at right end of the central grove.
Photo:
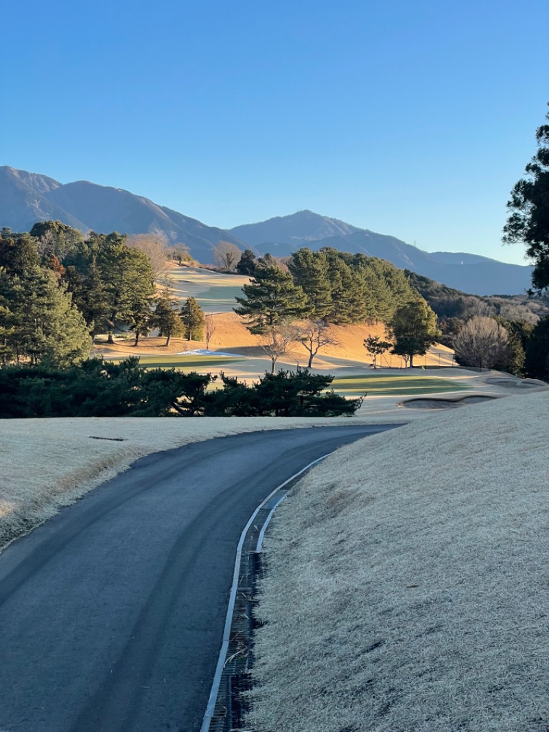
[{"label": "round dark evergreen at right end of the central grove", "polygon": [[409,302],[400,307],[388,325],[389,335],[395,341],[392,353],[410,359],[414,366],[414,356],[423,356],[427,348],[436,343],[441,332],[436,326],[436,315],[425,300]]}]

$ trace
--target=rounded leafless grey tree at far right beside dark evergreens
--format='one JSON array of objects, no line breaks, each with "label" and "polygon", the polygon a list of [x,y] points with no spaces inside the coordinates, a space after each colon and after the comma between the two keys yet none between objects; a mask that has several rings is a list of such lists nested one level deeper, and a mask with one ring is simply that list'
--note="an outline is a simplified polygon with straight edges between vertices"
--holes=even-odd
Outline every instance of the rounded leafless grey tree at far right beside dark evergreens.
[{"label": "rounded leafless grey tree at far right beside dark evergreens", "polygon": [[491,368],[509,361],[507,330],[494,318],[476,315],[466,322],[454,339],[455,355],[464,366]]}]

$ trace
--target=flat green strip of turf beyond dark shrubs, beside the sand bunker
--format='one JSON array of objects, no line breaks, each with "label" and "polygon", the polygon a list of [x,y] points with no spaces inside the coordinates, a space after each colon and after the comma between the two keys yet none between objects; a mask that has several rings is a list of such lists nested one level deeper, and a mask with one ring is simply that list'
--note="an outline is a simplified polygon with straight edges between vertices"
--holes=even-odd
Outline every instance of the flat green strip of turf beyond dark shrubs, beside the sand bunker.
[{"label": "flat green strip of turf beyond dark shrubs, beside the sand bunker", "polygon": [[411,394],[438,394],[442,392],[457,392],[466,389],[458,381],[450,378],[436,378],[435,376],[400,376],[392,373],[389,376],[375,374],[360,374],[356,376],[337,376],[332,381],[336,392],[345,396],[359,396],[368,394],[383,395],[411,395]]}]

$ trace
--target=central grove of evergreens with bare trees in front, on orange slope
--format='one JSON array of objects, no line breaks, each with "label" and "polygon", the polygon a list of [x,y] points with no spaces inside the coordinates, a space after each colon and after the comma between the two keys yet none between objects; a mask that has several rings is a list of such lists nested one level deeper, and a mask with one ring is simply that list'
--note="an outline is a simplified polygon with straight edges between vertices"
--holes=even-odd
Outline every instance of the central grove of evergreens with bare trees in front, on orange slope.
[{"label": "central grove of evergreens with bare trees in front, on orange slope", "polygon": [[386,261],[331,247],[316,252],[303,247],[285,264],[283,269],[269,255],[256,260],[246,250],[236,266],[253,278],[236,297],[234,310],[250,332],[263,337],[273,372],[292,341],[305,346],[311,367],[318,351],[334,343],[332,324],[381,321],[392,337],[392,353],[410,366],[440,335],[425,299],[402,270]]}]

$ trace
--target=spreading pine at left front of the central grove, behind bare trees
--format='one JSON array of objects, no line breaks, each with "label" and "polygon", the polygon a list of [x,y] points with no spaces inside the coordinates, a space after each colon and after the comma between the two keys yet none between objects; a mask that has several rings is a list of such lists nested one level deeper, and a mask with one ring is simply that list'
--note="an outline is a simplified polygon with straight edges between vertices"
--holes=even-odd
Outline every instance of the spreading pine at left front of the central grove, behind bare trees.
[{"label": "spreading pine at left front of the central grove, behind bare trees", "polygon": [[237,297],[234,312],[247,318],[251,333],[265,333],[285,321],[307,315],[307,298],[302,288],[294,285],[289,272],[278,267],[258,267],[249,285],[242,288],[244,297]]}]

